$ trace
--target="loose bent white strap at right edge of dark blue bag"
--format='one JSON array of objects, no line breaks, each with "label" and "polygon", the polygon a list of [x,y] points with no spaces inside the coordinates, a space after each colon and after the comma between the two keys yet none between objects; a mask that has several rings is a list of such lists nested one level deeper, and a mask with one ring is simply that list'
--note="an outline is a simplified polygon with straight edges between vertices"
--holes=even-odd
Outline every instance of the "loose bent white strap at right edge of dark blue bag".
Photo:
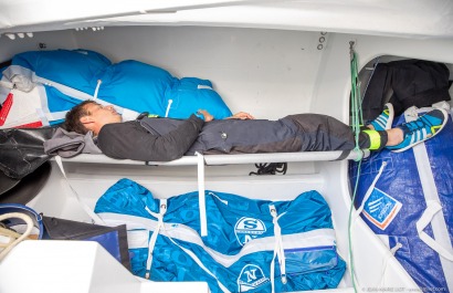
[{"label": "loose bent white strap at right edge of dark blue bag", "polygon": [[431,223],[434,216],[442,211],[442,206],[435,200],[426,201],[426,209],[424,210],[422,217],[417,221],[417,232],[419,233],[420,239],[430,248],[432,248],[435,252],[438,252],[441,257],[447,259],[449,261],[453,261],[453,251],[447,248],[442,247],[438,241],[432,239],[428,233],[423,230],[426,228],[428,224]]}]

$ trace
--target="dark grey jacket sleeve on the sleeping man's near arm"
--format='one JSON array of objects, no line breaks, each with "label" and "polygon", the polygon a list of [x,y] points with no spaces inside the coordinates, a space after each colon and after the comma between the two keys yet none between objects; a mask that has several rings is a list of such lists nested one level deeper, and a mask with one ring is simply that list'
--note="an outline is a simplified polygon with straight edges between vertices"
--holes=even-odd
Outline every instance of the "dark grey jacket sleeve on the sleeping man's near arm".
[{"label": "dark grey jacket sleeve on the sleeping man's near arm", "polygon": [[169,161],[180,158],[197,139],[203,121],[192,115],[162,136],[147,132],[139,122],[104,125],[98,135],[101,150],[110,158]]}]

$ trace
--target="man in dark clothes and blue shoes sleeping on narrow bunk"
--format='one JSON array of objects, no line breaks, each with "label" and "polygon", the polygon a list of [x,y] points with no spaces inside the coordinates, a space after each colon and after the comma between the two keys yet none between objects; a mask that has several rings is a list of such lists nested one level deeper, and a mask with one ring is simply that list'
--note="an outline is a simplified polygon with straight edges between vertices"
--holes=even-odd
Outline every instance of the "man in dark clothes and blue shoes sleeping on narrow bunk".
[{"label": "man in dark clothes and blue shoes sleeping on narrow bunk", "polygon": [[[361,149],[403,151],[440,133],[447,121],[444,109],[433,109],[417,121],[391,128],[393,108],[386,108],[359,134]],[[122,122],[112,106],[85,101],[66,114],[70,132],[97,136],[108,157],[144,161],[168,161],[183,155],[252,154],[287,151],[351,150],[351,127],[320,114],[288,115],[278,121],[254,119],[238,113],[215,121],[206,111],[188,119],[148,117]]]}]

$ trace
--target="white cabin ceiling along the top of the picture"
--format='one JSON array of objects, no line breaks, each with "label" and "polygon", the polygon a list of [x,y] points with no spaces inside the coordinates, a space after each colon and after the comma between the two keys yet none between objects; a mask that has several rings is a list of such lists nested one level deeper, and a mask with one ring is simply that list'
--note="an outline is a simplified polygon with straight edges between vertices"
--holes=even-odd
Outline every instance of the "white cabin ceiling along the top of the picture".
[{"label": "white cabin ceiling along the top of the picture", "polygon": [[263,28],[451,39],[453,1],[0,0],[0,34],[114,25]]}]

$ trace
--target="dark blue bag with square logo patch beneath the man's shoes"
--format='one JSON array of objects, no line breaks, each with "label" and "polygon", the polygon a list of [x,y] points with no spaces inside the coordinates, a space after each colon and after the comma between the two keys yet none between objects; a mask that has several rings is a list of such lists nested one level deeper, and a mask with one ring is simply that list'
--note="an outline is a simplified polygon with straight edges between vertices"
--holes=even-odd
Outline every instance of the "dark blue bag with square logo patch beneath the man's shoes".
[{"label": "dark blue bag with square logo patch beneath the man's shoes", "polygon": [[[417,112],[396,117],[393,127]],[[389,248],[399,248],[394,257],[424,292],[453,290],[452,146],[450,117],[439,135],[412,149],[372,153],[359,174],[355,203],[362,207],[362,219]],[[349,174],[355,186],[357,163]]]}]

